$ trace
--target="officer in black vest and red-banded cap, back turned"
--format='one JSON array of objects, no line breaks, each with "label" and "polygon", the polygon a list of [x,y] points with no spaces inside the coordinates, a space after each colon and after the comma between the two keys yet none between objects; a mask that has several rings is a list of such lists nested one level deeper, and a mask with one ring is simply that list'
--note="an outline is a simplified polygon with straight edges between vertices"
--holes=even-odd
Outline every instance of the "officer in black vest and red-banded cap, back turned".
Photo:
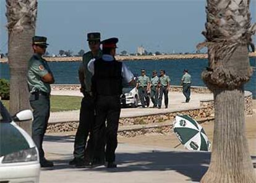
[{"label": "officer in black vest and red-banded cap, back turned", "polygon": [[[103,56],[93,59],[88,70],[93,73],[92,87],[96,94],[96,121],[93,127],[94,152],[100,140],[100,131],[106,126],[106,161],[107,168],[116,168],[115,151],[117,147],[117,129],[121,113],[120,95],[122,80],[132,85],[134,75],[122,62],[116,61],[117,38],[102,41]],[[94,155],[94,153],[92,153]],[[93,156],[90,158],[93,160]],[[93,166],[93,165],[92,165]]]}]

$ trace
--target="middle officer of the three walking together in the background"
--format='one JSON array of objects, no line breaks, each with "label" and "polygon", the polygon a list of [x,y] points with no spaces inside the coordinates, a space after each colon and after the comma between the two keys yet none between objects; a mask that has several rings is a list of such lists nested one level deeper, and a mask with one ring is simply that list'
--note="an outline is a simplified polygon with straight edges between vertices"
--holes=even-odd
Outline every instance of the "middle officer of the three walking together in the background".
[{"label": "middle officer of the three walking together in the background", "polygon": [[158,80],[159,77],[157,76],[156,70],[153,70],[152,78],[150,80],[150,96],[151,101],[153,103],[153,108],[157,107],[158,104],[158,95],[159,95],[159,88],[158,88]]}]

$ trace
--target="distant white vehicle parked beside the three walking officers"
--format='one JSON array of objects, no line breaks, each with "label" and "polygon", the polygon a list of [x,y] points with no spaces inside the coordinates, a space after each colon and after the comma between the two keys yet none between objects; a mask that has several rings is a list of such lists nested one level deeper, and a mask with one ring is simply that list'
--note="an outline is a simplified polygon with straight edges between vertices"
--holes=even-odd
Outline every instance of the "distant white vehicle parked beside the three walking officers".
[{"label": "distant white vehicle parked beside the three walking officers", "polygon": [[122,106],[132,106],[137,108],[139,106],[139,93],[135,87],[126,87],[122,89],[121,104]]}]

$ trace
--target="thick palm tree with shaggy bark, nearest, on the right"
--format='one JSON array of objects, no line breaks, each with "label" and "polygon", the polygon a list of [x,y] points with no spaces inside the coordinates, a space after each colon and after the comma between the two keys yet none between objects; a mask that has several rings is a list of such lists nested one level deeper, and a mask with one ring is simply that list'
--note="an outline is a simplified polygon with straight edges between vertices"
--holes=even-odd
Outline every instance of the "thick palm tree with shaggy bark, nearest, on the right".
[{"label": "thick palm tree with shaggy bark, nearest, on the right", "polygon": [[[202,78],[213,91],[215,128],[211,163],[201,182],[256,182],[245,137],[244,83],[252,69],[248,48],[256,26],[249,0],[207,0],[208,67]],[[254,48],[254,46],[252,46]]]}]

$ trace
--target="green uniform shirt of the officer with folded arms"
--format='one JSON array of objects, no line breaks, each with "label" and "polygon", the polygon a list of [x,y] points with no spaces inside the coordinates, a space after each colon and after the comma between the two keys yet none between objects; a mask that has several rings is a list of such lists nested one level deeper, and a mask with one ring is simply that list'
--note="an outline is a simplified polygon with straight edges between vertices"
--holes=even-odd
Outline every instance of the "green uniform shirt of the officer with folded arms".
[{"label": "green uniform shirt of the officer with folded arms", "polygon": [[46,74],[51,73],[49,66],[45,59],[38,54],[33,54],[28,61],[28,90],[35,91],[36,89],[44,91],[46,93],[51,92],[49,83],[45,83],[41,80]]}]

